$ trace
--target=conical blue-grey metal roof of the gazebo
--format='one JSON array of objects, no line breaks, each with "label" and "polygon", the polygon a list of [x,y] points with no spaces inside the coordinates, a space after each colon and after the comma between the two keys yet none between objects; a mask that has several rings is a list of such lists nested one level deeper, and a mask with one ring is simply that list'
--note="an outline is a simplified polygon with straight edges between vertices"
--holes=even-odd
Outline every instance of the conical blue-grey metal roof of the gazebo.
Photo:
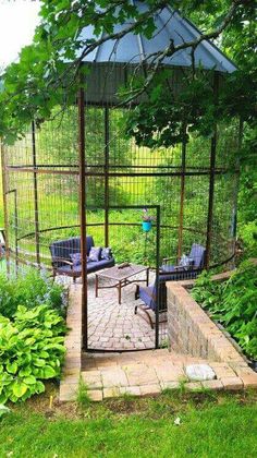
[{"label": "conical blue-grey metal roof of the gazebo", "polygon": [[[147,5],[140,1],[133,1],[140,13],[147,11]],[[128,33],[120,40],[107,40],[96,48],[90,55],[86,56],[85,62],[119,62],[119,63],[139,63],[150,53],[163,50],[173,40],[174,46],[183,41],[197,39],[201,33],[187,20],[182,17],[178,11],[170,7],[160,9],[154,16],[156,32],[152,38],[147,39],[143,34],[134,35]],[[126,28],[131,23],[118,25],[114,28],[119,33]],[[108,35],[103,34],[102,37]],[[81,38],[96,39],[93,27],[86,27]],[[147,58],[150,62],[150,58]],[[192,67],[192,48],[182,49],[171,57],[163,60],[166,65]],[[213,44],[203,40],[195,49],[195,67],[207,70],[215,69],[219,72],[232,73],[236,67]]]}]

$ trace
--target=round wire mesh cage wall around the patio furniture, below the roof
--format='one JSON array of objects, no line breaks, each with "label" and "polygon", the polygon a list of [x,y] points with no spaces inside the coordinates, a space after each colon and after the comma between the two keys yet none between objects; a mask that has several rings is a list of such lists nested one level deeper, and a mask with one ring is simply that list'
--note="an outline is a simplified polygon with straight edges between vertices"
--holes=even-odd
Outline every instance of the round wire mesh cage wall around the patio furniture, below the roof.
[{"label": "round wire mesh cage wall around the patio furniture, below the roof", "polygon": [[[209,137],[188,131],[188,142],[174,147],[139,147],[125,131],[135,104],[124,107],[119,97],[135,65],[88,69],[83,97],[4,146],[7,260],[14,272],[33,264],[61,281],[85,282],[90,349],[154,348],[166,345],[166,285],[191,274],[181,265],[174,275],[183,255],[193,256],[196,276],[234,253],[237,125],[217,126],[215,142],[216,129]],[[182,73],[173,72],[174,92]],[[119,291],[113,267],[124,263],[135,270]],[[105,282],[111,288],[101,289]]]}]

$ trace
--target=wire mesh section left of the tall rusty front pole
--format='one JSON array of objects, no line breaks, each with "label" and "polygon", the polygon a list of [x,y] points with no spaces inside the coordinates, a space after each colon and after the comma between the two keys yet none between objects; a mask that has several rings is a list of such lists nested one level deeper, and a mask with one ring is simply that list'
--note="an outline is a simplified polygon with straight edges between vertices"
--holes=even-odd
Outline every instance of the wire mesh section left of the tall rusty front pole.
[{"label": "wire mesh section left of the tall rusty front pole", "polygon": [[9,253],[20,266],[50,269],[50,244],[78,236],[76,107],[56,108],[52,120],[34,123],[4,147],[4,193]]}]

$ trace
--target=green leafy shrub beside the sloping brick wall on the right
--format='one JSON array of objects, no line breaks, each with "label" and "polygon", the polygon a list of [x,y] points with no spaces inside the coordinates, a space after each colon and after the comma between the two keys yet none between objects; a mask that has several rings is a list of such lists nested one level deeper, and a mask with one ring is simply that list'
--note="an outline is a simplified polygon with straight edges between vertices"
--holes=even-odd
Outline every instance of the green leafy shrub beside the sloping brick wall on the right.
[{"label": "green leafy shrub beside the sloping brick wall on the right", "polygon": [[257,359],[257,269],[244,262],[228,281],[215,282],[203,273],[192,296],[237,340],[247,355]]}]

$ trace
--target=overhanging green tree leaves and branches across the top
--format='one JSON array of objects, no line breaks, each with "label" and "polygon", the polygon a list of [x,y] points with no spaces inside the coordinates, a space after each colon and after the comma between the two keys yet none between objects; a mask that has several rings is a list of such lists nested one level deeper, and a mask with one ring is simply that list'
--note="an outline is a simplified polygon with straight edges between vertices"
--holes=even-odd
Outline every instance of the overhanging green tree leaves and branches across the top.
[{"label": "overhanging green tree leaves and branches across the top", "polygon": [[[103,40],[119,39],[128,32],[143,33],[150,38],[155,33],[154,14],[166,5],[180,8],[181,13],[193,19],[204,33],[195,43],[194,40],[183,43],[178,47],[171,41],[168,48],[155,57],[154,69],[152,67],[148,69],[145,81],[139,83],[137,81],[131,87],[132,93],[127,95],[127,98],[131,99],[148,89],[150,103],[152,97],[157,101],[158,98],[162,101],[163,91],[167,88],[163,88],[159,80],[158,91],[155,89],[154,94],[152,87],[156,87],[157,69],[161,67],[164,57],[183,47],[193,46],[194,48],[204,38],[212,38],[218,40],[219,46],[234,59],[240,68],[236,75],[231,75],[222,95],[220,110],[222,108],[229,116],[240,113],[247,121],[252,121],[254,2],[250,0],[219,0],[217,2],[146,0],[145,3],[148,9],[146,12],[140,12],[136,2],[128,0],[108,2],[105,0],[72,2],[44,0],[40,10],[41,22],[36,28],[33,44],[22,49],[20,61],[9,65],[3,75],[3,91],[0,95],[0,135],[10,141],[23,132],[24,124],[32,118],[41,122],[51,116],[51,110],[56,105],[69,104],[69,99],[74,99],[77,91],[77,73],[85,56]],[[115,32],[118,24],[127,25],[122,31]],[[81,34],[83,28],[89,25],[94,28],[95,39],[85,39]],[[186,98],[185,105],[192,104],[195,98],[199,109],[200,85],[200,81],[198,84],[194,81],[187,93],[182,95],[182,98]],[[205,96],[208,94],[205,93]],[[183,100],[179,101],[183,105]],[[203,112],[206,105],[201,107]],[[169,116],[174,120],[180,118],[181,112],[173,111],[170,109]],[[210,110],[208,110],[208,116],[210,116]],[[206,118],[203,119],[203,124],[206,124]]]}]

